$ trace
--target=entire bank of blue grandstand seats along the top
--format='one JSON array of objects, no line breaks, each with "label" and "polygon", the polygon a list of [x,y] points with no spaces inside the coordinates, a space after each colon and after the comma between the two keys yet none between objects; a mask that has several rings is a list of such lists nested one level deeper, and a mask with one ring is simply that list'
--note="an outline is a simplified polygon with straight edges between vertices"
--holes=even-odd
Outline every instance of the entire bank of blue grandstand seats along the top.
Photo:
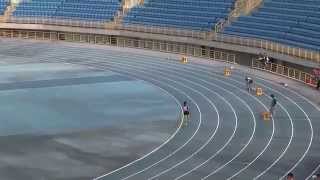
[{"label": "entire bank of blue grandstand seats along the top", "polygon": [[[8,5],[8,0],[2,0],[0,13]],[[225,25],[221,33],[319,51],[319,6],[318,0],[265,0]],[[127,9],[121,23],[210,32],[234,8],[235,0],[148,0]],[[123,10],[119,0],[32,0],[18,3],[11,16],[110,22]]]}]

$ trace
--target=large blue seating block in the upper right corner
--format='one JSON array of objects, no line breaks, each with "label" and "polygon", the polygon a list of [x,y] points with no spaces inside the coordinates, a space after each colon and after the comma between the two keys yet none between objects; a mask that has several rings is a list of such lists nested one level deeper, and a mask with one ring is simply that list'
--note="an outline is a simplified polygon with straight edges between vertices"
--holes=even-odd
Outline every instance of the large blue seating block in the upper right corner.
[{"label": "large blue seating block in the upper right corner", "polygon": [[265,0],[258,11],[241,16],[224,33],[320,50],[320,0]]}]

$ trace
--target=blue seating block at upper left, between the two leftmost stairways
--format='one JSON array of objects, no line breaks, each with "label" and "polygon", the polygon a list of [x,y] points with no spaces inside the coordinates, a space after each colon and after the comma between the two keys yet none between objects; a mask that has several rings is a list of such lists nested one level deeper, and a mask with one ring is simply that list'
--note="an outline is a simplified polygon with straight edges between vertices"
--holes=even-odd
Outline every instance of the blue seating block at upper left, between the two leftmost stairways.
[{"label": "blue seating block at upper left, between the two leftmost stairways", "polygon": [[32,0],[19,4],[14,16],[108,21],[120,8],[119,0]]}]

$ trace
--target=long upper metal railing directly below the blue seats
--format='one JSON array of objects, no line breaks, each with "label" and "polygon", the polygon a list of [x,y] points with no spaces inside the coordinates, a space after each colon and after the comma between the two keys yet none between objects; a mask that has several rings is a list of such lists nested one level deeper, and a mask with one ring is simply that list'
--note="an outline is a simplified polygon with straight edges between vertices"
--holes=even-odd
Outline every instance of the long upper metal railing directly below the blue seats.
[{"label": "long upper metal railing directly below the blue seats", "polygon": [[59,26],[73,26],[84,28],[102,28],[111,30],[126,30],[134,32],[144,32],[152,34],[163,34],[170,36],[183,36],[192,37],[196,39],[202,39],[207,41],[217,41],[228,44],[240,45],[245,47],[253,47],[261,50],[271,51],[278,54],[297,57],[304,60],[309,60],[320,64],[320,52],[313,51],[304,48],[292,47],[286,44],[276,43],[273,41],[245,38],[239,36],[226,35],[215,32],[203,32],[196,30],[184,30],[168,27],[156,27],[156,26],[143,26],[138,24],[115,24],[105,22],[86,22],[86,21],[74,21],[74,20],[62,20],[62,19],[44,19],[44,18],[17,18],[12,17],[10,22],[24,23],[24,24],[51,24]]}]

